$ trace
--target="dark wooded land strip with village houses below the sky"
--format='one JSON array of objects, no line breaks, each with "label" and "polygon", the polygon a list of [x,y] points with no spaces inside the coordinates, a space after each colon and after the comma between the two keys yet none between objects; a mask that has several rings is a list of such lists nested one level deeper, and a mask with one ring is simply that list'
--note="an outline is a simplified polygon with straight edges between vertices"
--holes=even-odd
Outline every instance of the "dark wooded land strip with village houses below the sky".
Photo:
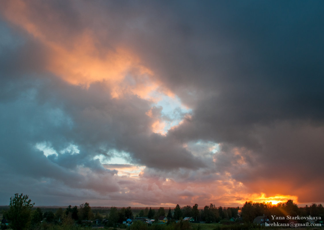
[{"label": "dark wooded land strip with village houses below the sky", "polygon": [[[216,207],[209,204],[199,208],[198,204],[194,206],[186,205],[175,208],[132,208],[132,207],[91,207],[89,203],[83,203],[79,206],[62,207],[34,207],[34,203],[27,195],[15,194],[10,198],[9,206],[2,206],[0,209],[1,229],[12,228],[13,230],[50,230],[54,226],[61,228],[74,227],[118,227],[129,228],[133,230],[136,226],[143,229],[144,225],[135,224],[135,220],[150,220],[150,224],[178,224],[190,220],[191,223],[219,223],[220,225],[230,224],[252,224],[257,216],[283,217],[281,222],[287,222],[287,216],[316,216],[317,222],[322,223],[324,219],[324,208],[322,204],[312,204],[311,206],[298,207],[293,200],[285,203],[272,205],[271,203],[253,203],[247,201],[242,208],[239,207]],[[140,218],[145,217],[145,218]],[[190,219],[188,218],[190,217]],[[279,218],[280,219],[280,218]],[[298,222],[305,222],[299,220]],[[188,222],[188,221],[187,221]],[[190,224],[191,224],[190,223]],[[185,224],[186,229],[191,225]],[[178,224],[179,225],[179,224]],[[179,225],[179,228],[182,228]],[[176,226],[176,225],[175,225]],[[197,225],[199,226],[199,225]],[[250,226],[250,225],[249,225]],[[218,226],[220,227],[220,226]],[[224,227],[222,227],[224,228]],[[226,228],[226,227],[225,227]],[[242,229],[242,226],[241,226]]]}]

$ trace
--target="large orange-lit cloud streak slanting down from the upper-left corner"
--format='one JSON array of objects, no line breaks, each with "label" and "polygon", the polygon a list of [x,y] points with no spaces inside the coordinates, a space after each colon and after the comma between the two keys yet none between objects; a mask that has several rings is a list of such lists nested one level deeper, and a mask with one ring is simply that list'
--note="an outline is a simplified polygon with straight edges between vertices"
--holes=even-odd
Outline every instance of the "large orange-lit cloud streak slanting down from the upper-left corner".
[{"label": "large orange-lit cloud streak slanting down from the upper-left corner", "polygon": [[[131,50],[121,44],[112,49],[100,46],[91,29],[63,38],[50,36],[50,30],[60,30],[59,25],[49,28],[42,24],[33,15],[31,7],[24,1],[9,1],[5,16],[48,49],[47,69],[58,77],[84,87],[96,81],[105,81],[114,98],[123,96],[125,92],[150,98],[150,92],[158,88],[158,82],[152,78],[152,70],[142,65],[140,58]],[[51,15],[51,12],[48,14]],[[127,75],[131,79],[126,79]]]}]

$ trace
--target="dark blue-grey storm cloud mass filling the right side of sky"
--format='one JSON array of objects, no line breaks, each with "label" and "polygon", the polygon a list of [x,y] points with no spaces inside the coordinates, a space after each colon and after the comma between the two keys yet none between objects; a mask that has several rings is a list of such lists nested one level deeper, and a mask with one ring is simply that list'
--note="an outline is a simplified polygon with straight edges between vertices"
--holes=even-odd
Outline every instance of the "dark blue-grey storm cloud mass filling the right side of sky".
[{"label": "dark blue-grey storm cloud mass filling the right side of sky", "polygon": [[[139,52],[153,50],[143,54],[147,62],[194,108],[192,118],[169,135],[180,141],[224,143],[216,167],[245,182],[254,177],[247,173],[243,179],[244,170],[233,169],[233,147],[250,151],[252,156],[244,158],[252,171],[257,170],[254,175],[289,179],[294,186],[307,177],[322,179],[321,161],[315,159],[322,158],[318,144],[323,133],[318,130],[324,112],[324,56],[319,52],[324,48],[323,3],[193,3],[195,10],[187,8],[190,4],[179,5],[162,7],[177,12],[166,13],[171,16],[163,23],[146,20],[154,29],[144,30],[138,39],[142,42],[135,46]],[[157,12],[156,18],[162,14]],[[282,138],[270,141],[263,127]],[[310,133],[317,135],[309,138]],[[300,168],[305,172],[297,179]],[[314,179],[312,194],[318,194],[316,183],[321,179]]]}]

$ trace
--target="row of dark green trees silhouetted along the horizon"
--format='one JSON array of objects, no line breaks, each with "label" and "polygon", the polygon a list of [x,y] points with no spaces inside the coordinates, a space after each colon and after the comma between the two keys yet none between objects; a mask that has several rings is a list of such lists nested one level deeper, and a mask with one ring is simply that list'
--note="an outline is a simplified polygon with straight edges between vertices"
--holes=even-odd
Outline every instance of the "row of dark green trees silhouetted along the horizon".
[{"label": "row of dark green trees silhouetted along the horizon", "polygon": [[[82,225],[84,222],[89,223],[89,220],[105,220],[107,227],[115,227],[116,224],[121,224],[127,219],[134,219],[134,213],[131,207],[123,207],[118,209],[111,207],[109,213],[102,214],[99,211],[93,213],[89,203],[80,204],[80,206],[67,206],[66,209],[58,208],[56,212],[42,212],[38,207],[32,210],[35,203],[32,203],[28,195],[18,194],[10,198],[9,210],[4,212],[3,217],[10,223],[13,230],[26,229],[46,229],[46,224],[58,224],[63,226]],[[231,221],[241,221],[252,223],[254,218],[260,215],[277,217],[290,216],[318,216],[321,220],[324,219],[324,208],[322,204],[312,204],[304,208],[298,208],[293,200],[288,200],[285,203],[272,205],[269,203],[253,203],[247,201],[240,209],[216,207],[214,204],[206,205],[203,209],[198,208],[198,204],[194,206],[186,205],[180,207],[176,205],[174,209],[165,210],[164,207],[152,209],[151,207],[141,209],[135,217],[147,217],[149,219],[158,220],[159,217],[166,217],[170,223],[182,220],[185,217],[192,217],[194,221],[205,223],[219,223]],[[239,218],[238,218],[239,217]],[[126,227],[126,226],[124,226]],[[6,229],[6,225],[1,226]]]}]

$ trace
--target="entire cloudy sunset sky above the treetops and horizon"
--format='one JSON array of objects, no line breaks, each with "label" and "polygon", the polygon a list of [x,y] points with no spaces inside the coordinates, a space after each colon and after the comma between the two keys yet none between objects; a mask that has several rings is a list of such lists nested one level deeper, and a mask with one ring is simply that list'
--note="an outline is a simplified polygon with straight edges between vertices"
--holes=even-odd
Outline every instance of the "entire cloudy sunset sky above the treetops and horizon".
[{"label": "entire cloudy sunset sky above the treetops and horizon", "polygon": [[323,1],[0,3],[0,205],[324,203]]}]

